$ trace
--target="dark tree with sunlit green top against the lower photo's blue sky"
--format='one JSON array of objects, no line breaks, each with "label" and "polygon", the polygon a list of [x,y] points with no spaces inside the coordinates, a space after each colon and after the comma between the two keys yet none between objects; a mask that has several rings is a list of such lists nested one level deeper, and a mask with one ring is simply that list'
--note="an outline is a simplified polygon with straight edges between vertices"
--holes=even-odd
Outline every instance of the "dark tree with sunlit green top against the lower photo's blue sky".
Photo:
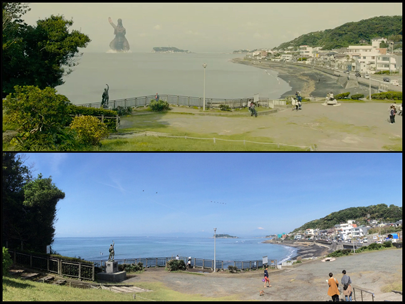
[{"label": "dark tree with sunlit green top against the lower photo's blue sky", "polygon": [[52,182],[52,177],[42,174],[23,187],[23,214],[29,233],[25,235],[27,249],[46,252],[46,246],[54,241],[56,204],[65,194]]}]

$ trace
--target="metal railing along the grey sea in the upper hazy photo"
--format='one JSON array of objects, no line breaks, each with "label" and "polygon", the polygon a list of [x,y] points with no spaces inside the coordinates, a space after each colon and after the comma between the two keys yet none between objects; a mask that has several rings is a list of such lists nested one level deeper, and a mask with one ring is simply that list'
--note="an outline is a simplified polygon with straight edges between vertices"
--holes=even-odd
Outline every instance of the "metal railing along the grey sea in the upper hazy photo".
[{"label": "metal railing along the grey sea in the upper hazy photo", "polygon": [[[112,108],[120,107],[137,107],[146,106],[151,100],[154,100],[154,95],[132,97],[125,99],[117,99],[108,101],[108,106]],[[190,96],[177,96],[177,95],[159,95],[159,100],[167,101],[169,104],[184,105],[184,106],[197,106],[203,107],[204,98],[202,97],[190,97]],[[206,107],[216,108],[220,104],[225,104],[231,108],[243,108],[247,107],[252,98],[236,98],[236,99],[218,99],[218,98],[206,98]],[[76,104],[77,106],[100,108],[101,102]],[[270,100],[268,98],[259,97],[259,106],[271,107],[274,105],[286,105],[285,100]]]}]

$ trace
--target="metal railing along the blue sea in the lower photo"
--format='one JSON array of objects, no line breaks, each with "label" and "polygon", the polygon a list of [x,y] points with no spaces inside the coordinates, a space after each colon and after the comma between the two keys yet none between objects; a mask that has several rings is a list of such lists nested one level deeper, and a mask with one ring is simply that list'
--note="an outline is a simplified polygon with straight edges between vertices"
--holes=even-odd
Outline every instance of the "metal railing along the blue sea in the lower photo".
[{"label": "metal railing along the blue sea in the lower photo", "polygon": [[[115,261],[118,264],[137,264],[141,262],[143,267],[165,267],[166,263],[174,259],[173,257],[142,257],[142,258],[128,258],[128,259],[116,259]],[[186,264],[188,257],[179,257]],[[92,260],[95,267],[103,268],[107,260]],[[277,260],[268,260],[268,267],[276,268]],[[214,260],[204,259],[204,258],[191,258],[191,266],[199,268],[208,268],[213,269]],[[234,266],[238,270],[247,270],[247,269],[258,269],[263,267],[263,260],[250,260],[250,261],[215,261],[216,269],[228,269],[228,266]]]}]

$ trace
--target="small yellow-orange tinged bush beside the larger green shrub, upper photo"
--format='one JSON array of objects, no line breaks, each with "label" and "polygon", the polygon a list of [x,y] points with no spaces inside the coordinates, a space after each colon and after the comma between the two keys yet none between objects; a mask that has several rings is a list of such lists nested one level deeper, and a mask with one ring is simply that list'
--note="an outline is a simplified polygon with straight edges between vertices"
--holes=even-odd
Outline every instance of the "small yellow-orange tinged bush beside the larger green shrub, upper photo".
[{"label": "small yellow-orange tinged bush beside the larger green shrub, upper photo", "polygon": [[76,131],[77,141],[85,145],[98,145],[109,134],[104,123],[94,116],[75,117],[70,128]]}]

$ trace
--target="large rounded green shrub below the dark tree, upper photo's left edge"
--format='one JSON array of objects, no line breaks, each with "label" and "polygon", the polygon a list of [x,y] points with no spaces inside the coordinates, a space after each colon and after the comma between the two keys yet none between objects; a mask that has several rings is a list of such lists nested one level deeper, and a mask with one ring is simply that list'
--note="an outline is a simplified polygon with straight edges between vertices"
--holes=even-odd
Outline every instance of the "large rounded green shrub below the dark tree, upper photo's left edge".
[{"label": "large rounded green shrub below the dark tree, upper photo's left edge", "polygon": [[72,148],[72,134],[65,130],[70,101],[53,88],[15,87],[3,101],[5,123],[17,124],[11,141],[20,150],[66,150]]}]

